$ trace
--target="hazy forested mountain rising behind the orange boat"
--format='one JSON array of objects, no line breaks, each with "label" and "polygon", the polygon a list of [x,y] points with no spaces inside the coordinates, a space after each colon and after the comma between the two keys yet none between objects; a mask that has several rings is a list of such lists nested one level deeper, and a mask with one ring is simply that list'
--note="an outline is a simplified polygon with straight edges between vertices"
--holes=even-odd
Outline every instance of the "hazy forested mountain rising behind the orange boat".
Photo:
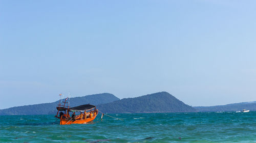
[{"label": "hazy forested mountain rising behind the orange boat", "polygon": [[[113,94],[102,93],[102,94],[94,94],[87,95],[83,97],[74,97],[70,98],[70,106],[78,106],[82,104],[104,104],[113,102],[116,100],[120,100]],[[52,103],[42,103],[42,104],[34,104],[34,105],[25,105],[25,106],[17,106],[11,107],[7,109],[0,110],[0,115],[46,115],[46,114],[55,114],[57,109],[56,106],[59,101],[55,101]]]}]

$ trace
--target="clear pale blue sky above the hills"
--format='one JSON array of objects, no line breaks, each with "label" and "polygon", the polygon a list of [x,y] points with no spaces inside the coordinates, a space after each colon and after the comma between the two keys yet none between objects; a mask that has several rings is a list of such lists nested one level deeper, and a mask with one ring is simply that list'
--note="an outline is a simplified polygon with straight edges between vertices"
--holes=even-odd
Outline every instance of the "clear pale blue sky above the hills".
[{"label": "clear pale blue sky above the hills", "polygon": [[256,1],[0,1],[0,109],[60,93],[256,100]]}]

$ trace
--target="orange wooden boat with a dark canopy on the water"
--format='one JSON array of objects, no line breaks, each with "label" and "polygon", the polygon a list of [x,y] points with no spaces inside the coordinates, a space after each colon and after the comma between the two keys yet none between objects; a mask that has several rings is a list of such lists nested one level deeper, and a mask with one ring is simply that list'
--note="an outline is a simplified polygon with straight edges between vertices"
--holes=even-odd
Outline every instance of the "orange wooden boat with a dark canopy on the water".
[{"label": "orange wooden boat with a dark canopy on the water", "polygon": [[[96,106],[91,104],[84,104],[70,108],[67,99],[68,98],[66,98],[66,100],[63,102],[63,105],[59,103],[56,107],[58,112],[55,117],[60,119],[60,125],[86,124],[88,122],[92,122],[98,115],[98,109],[96,109]],[[63,113],[62,111],[65,112]],[[71,117],[70,112],[73,112]],[[75,112],[79,112],[79,115],[76,115]]]}]

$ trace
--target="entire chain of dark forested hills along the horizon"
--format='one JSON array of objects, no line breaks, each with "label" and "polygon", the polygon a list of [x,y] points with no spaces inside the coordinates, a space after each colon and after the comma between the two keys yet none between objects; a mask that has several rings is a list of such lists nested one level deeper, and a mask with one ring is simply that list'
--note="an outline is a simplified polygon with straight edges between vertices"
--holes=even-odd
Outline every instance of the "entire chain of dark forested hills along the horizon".
[{"label": "entire chain of dark forested hills along the horizon", "polygon": [[[58,101],[11,107],[0,110],[1,115],[54,115]],[[151,113],[151,112],[213,112],[256,110],[256,101],[219,106],[189,106],[167,92],[158,92],[135,98],[119,99],[113,94],[102,93],[70,98],[70,107],[82,104],[96,105],[105,113]]]}]

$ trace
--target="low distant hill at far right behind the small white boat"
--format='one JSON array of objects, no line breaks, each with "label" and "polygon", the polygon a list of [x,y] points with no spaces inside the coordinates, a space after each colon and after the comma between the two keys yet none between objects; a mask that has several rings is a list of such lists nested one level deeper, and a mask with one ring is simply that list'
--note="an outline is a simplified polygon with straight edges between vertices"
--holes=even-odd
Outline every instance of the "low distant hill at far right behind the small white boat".
[{"label": "low distant hill at far right behind the small white boat", "polygon": [[227,105],[218,106],[196,106],[194,107],[199,112],[215,112],[215,111],[241,111],[243,109],[256,111],[256,101],[253,102],[241,102]]}]

